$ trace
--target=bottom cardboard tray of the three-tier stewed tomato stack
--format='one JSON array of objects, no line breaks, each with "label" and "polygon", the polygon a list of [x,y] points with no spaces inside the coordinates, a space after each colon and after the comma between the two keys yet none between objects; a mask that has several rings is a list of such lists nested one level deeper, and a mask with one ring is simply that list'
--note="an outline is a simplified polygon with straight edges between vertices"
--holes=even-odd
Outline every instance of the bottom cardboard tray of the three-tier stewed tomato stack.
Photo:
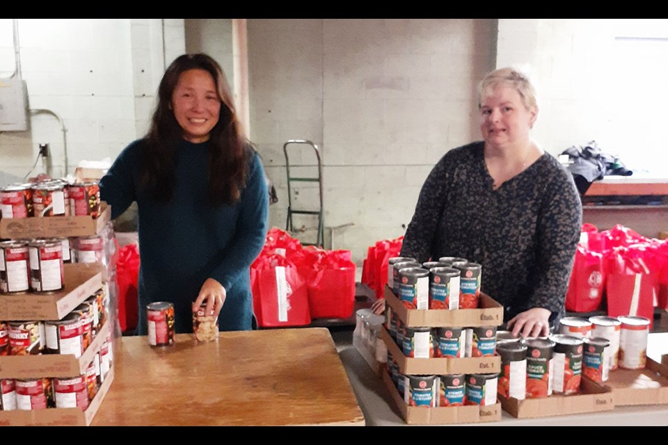
[{"label": "bottom cardboard tray of the three-tier stewed tomato stack", "polygon": [[501,404],[494,405],[466,405],[445,407],[415,407],[408,406],[401,397],[392,377],[383,369],[383,382],[392,394],[404,421],[410,425],[444,425],[448,423],[479,423],[501,420]]}]

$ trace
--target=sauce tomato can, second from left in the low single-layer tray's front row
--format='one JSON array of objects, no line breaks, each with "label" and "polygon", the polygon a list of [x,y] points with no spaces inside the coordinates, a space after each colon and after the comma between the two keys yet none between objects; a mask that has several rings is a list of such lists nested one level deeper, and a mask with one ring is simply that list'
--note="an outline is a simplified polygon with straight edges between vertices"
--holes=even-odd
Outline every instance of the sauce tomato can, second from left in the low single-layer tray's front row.
[{"label": "sauce tomato can, second from left in the low single-layer tray's front row", "polygon": [[525,339],[527,346],[527,398],[552,395],[552,354],[555,342],[550,339]]}]

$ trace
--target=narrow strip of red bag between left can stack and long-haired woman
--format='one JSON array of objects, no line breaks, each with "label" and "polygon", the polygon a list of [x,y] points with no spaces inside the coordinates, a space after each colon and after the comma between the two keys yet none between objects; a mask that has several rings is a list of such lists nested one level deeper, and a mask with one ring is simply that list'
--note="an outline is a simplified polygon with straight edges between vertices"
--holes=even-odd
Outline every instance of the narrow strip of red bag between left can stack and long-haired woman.
[{"label": "narrow strip of red bag between left can stack and long-haired woman", "polygon": [[132,243],[118,250],[116,259],[116,284],[118,285],[118,323],[126,332],[137,327],[139,305],[137,286],[139,280],[139,247]]}]

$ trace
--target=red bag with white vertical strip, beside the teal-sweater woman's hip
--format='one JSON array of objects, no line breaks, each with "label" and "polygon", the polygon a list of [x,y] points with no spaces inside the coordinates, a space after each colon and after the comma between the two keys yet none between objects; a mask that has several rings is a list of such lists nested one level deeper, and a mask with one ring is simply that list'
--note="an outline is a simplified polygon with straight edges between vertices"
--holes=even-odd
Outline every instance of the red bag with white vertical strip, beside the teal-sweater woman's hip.
[{"label": "red bag with white vertical strip, beside the teal-sweater woman's hip", "polygon": [[253,310],[262,327],[311,323],[306,281],[289,259],[273,254],[258,257],[250,270]]}]

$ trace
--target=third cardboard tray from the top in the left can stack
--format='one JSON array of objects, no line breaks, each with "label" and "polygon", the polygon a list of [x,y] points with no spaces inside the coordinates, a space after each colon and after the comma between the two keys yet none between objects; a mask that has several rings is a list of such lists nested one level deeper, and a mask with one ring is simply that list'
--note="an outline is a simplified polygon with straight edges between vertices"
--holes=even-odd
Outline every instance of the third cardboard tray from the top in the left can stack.
[{"label": "third cardboard tray from the top in the left can stack", "polygon": [[88,364],[109,337],[111,323],[104,323],[81,357],[73,354],[6,355],[0,357],[0,378],[72,377],[83,375]]}]

